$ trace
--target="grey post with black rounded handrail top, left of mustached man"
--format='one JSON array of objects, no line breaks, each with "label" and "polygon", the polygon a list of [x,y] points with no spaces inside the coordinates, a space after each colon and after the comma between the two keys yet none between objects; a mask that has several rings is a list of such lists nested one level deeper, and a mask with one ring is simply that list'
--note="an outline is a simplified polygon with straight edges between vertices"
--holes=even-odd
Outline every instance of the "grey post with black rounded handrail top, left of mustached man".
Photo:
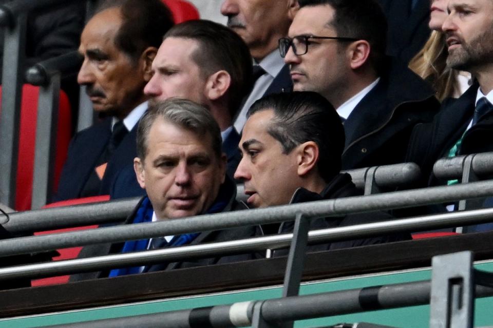
[{"label": "grey post with black rounded handrail top, left of mustached man", "polygon": [[33,209],[45,205],[53,190],[60,82],[62,78],[76,74],[81,63],[80,54],[73,51],[37,63],[26,71],[27,82],[40,86],[34,147],[31,200],[31,208]]}]

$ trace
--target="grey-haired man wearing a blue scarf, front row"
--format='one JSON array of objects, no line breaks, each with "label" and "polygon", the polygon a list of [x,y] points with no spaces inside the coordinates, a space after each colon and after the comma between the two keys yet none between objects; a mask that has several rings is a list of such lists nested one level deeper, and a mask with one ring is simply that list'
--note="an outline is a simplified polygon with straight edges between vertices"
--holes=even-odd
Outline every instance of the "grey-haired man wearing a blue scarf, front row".
[{"label": "grey-haired man wearing a blue scarf, front row", "polygon": [[[178,98],[151,104],[139,123],[137,153],[138,157],[134,161],[135,173],[147,196],[142,198],[125,224],[179,219],[245,208],[236,202],[236,185],[226,176],[226,156],[221,151],[219,126],[203,106]],[[82,249],[80,257],[243,239],[256,234],[257,227],[240,227],[163,236],[151,240],[91,245]],[[82,274],[73,276],[72,280],[115,277],[253,257],[253,254],[245,254],[159,263]]]}]

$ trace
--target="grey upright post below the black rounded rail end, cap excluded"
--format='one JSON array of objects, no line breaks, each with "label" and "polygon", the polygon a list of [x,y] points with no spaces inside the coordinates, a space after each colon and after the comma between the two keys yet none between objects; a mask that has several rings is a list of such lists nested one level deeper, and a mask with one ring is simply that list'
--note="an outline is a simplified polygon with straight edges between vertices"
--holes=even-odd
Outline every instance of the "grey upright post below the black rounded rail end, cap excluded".
[{"label": "grey upright post below the black rounded rail end, cap excluded", "polygon": [[37,103],[36,144],[34,148],[34,175],[31,208],[46,204],[53,190],[56,130],[60,104],[60,74],[40,88]]}]

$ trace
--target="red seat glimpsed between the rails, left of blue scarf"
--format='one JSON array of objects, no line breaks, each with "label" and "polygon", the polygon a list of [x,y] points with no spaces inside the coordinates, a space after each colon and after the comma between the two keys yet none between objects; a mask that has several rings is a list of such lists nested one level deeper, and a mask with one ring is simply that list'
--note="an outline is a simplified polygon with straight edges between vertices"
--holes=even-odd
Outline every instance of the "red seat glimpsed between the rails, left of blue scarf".
[{"label": "red seat glimpsed between the rails, left of blue scarf", "polygon": [[[97,202],[104,202],[104,201],[108,201],[108,200],[109,200],[109,195],[78,198],[78,199],[69,199],[69,200],[45,205],[45,206],[43,206],[43,208],[79,205],[79,204],[87,204],[87,203],[97,203]],[[88,226],[76,227],[76,228],[40,231],[38,233],[34,233],[34,235],[39,236],[39,235],[48,235],[48,234],[59,234],[59,233],[65,233],[68,231],[94,229],[97,227],[98,227],[98,225],[88,225]],[[81,252],[81,249],[82,249],[82,247],[71,247],[71,248],[58,249],[58,253],[60,253],[60,256],[54,257],[53,261],[75,259],[75,258],[77,258],[77,256]],[[35,280],[31,280],[31,285],[32,286],[44,286],[44,285],[67,283],[68,278],[69,278],[69,276],[59,276],[59,277],[35,279]]]}]

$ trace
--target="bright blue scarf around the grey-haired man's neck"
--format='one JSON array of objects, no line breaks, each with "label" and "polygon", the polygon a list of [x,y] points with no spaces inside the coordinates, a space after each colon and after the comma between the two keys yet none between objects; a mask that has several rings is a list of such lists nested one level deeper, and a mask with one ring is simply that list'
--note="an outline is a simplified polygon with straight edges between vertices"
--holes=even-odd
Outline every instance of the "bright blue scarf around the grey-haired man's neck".
[{"label": "bright blue scarf around the grey-haired man's neck", "polygon": [[[232,192],[234,192],[233,190],[234,187],[236,187],[234,186],[234,183],[230,179],[226,178],[226,181],[219,188],[219,193],[216,198],[216,201],[207,210],[206,214],[214,214],[214,213],[222,212],[231,200],[231,195]],[[132,223],[151,222],[153,220],[153,213],[154,213],[153,205],[150,203],[149,198],[146,196],[142,200],[142,203],[140,204],[139,208],[137,209],[136,215],[134,217],[134,221],[132,221]],[[173,237],[172,240],[170,240],[167,243],[166,246],[171,247],[171,246],[181,246],[181,245],[189,244],[192,241],[194,241],[194,239],[197,238],[198,235],[200,235],[200,233],[181,234],[175,236]],[[137,252],[139,250],[145,250],[147,249],[148,244],[149,244],[149,239],[126,241],[123,244],[121,253]],[[112,269],[109,272],[108,277],[138,274],[140,273],[140,268],[141,268],[140,266],[133,266],[133,267],[120,268],[120,269]]]}]

